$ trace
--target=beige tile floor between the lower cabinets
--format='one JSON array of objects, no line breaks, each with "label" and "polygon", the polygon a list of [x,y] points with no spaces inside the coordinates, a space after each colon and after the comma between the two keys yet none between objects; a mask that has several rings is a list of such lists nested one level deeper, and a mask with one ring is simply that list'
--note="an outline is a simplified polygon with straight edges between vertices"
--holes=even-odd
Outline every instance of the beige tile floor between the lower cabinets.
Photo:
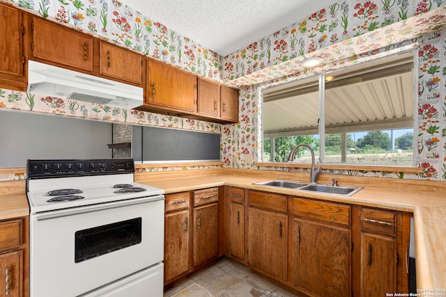
[{"label": "beige tile floor between the lower cabinets", "polygon": [[164,297],[291,297],[249,268],[228,259],[192,275],[164,292]]}]

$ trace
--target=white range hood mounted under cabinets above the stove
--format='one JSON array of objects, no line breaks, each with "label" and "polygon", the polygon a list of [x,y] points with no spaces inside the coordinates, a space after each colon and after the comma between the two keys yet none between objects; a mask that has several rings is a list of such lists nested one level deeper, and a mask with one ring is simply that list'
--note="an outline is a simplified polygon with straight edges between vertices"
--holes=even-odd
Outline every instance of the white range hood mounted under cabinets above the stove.
[{"label": "white range hood mounted under cabinets above the stove", "polygon": [[144,90],[102,77],[28,61],[28,93],[133,109],[144,103]]}]

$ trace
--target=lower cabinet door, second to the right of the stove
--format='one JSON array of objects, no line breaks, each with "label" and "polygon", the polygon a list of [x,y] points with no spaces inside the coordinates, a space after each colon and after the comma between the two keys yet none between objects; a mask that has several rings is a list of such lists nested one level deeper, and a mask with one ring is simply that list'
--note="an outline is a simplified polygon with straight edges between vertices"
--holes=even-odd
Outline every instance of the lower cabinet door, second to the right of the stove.
[{"label": "lower cabinet door, second to the right of the stove", "polygon": [[194,266],[218,255],[218,204],[194,208]]}]

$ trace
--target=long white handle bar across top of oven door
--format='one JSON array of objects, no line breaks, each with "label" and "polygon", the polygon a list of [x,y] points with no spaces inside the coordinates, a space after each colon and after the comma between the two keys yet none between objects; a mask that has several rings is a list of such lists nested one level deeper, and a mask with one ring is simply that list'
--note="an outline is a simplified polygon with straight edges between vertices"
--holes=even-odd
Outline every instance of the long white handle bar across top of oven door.
[{"label": "long white handle bar across top of oven door", "polygon": [[155,202],[164,200],[164,195],[148,196],[144,198],[128,199],[128,200],[118,200],[115,202],[107,202],[100,204],[86,205],[82,207],[74,207],[70,209],[61,209],[58,211],[51,211],[48,213],[36,214],[36,219],[39,220],[51,220],[53,218],[63,218],[65,216],[75,216],[77,214],[86,214],[94,211],[102,211],[105,209],[114,209],[116,207],[125,207],[134,204],[143,204],[149,202]]}]

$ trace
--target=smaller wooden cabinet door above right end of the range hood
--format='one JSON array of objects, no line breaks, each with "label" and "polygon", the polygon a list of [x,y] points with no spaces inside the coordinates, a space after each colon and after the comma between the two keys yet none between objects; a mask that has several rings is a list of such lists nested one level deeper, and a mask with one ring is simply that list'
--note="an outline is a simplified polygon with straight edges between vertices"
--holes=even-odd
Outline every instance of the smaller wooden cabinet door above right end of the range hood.
[{"label": "smaller wooden cabinet door above right end of the range hood", "polygon": [[142,56],[132,51],[100,42],[99,73],[131,83],[142,83]]}]

